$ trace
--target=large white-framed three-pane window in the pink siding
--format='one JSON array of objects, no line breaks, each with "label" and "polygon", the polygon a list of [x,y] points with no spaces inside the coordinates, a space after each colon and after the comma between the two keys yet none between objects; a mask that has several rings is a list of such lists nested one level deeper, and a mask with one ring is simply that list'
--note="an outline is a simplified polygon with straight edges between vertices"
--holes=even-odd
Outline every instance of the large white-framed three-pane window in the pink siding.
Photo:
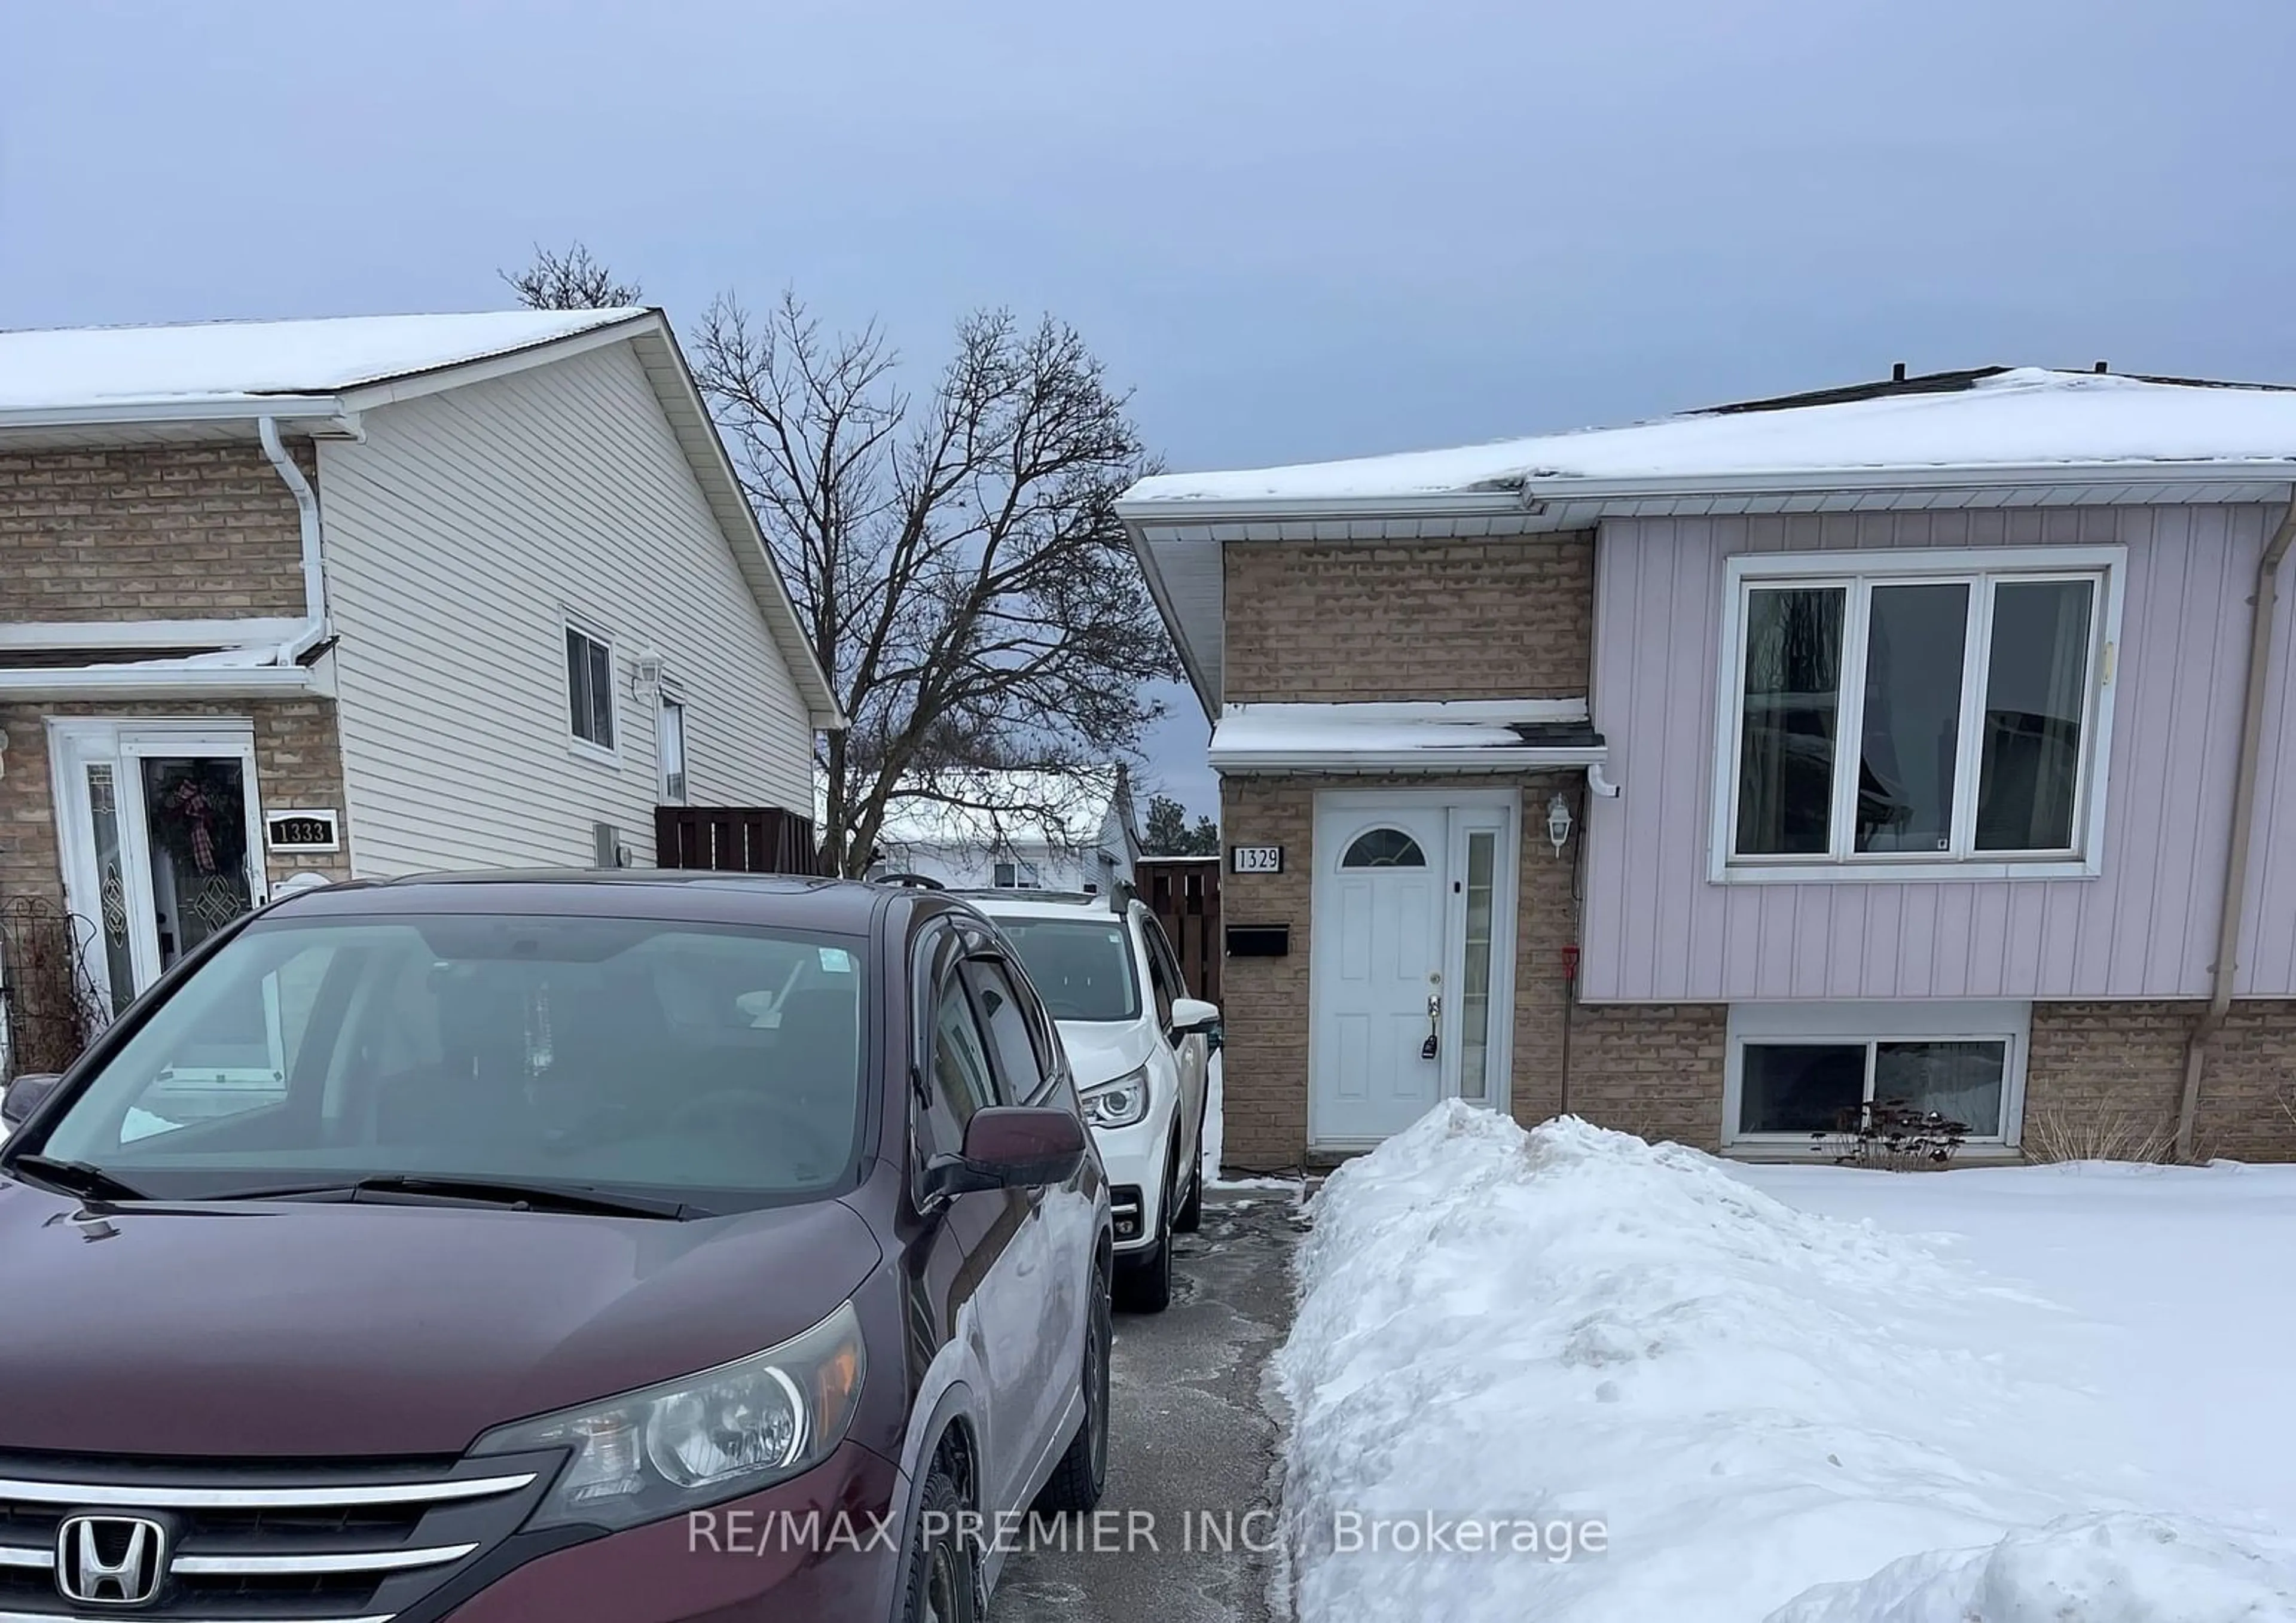
[{"label": "large white-framed three-pane window in the pink siding", "polygon": [[1713,877],[2094,875],[2124,558],[1731,558]]}]

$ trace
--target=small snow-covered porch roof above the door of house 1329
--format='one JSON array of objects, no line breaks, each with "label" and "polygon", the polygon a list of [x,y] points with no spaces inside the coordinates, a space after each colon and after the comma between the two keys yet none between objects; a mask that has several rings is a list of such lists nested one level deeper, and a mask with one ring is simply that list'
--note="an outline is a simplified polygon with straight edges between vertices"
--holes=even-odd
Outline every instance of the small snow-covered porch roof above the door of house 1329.
[{"label": "small snow-covered porch roof above the door of house 1329", "polygon": [[1215,771],[1497,771],[1603,762],[1584,698],[1228,705]]}]

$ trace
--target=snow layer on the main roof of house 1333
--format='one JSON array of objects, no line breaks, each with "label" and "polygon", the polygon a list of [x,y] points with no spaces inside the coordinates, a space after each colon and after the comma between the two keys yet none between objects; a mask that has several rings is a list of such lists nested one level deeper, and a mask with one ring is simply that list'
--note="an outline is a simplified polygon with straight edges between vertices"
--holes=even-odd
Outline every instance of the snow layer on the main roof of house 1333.
[{"label": "snow layer on the main roof of house 1333", "polygon": [[647,310],[496,310],[0,333],[0,420],[103,411],[211,416],[324,397],[558,342]]}]

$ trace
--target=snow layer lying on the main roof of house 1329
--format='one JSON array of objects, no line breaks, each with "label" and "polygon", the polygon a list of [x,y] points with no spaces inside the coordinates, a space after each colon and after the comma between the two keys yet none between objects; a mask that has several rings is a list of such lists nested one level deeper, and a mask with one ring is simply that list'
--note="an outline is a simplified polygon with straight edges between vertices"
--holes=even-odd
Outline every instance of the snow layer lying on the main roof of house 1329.
[{"label": "snow layer lying on the main roof of house 1329", "polygon": [[[1938,379],[1952,379],[1940,388]],[[2296,475],[2296,390],[2043,367],[1903,379],[1867,390],[1690,411],[1458,450],[1240,473],[1162,473],[1125,494],[1162,503],[1405,500],[1573,482],[1729,487],[1883,471],[2273,464]],[[1711,487],[1711,484],[1708,484]]]}]

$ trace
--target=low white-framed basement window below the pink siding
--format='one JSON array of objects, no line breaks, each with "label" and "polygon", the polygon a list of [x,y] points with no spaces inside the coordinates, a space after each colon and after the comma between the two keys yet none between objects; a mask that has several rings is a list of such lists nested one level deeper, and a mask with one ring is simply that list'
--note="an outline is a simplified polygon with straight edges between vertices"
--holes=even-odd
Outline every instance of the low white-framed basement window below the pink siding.
[{"label": "low white-framed basement window below the pink siding", "polygon": [[1807,1148],[1896,1104],[2014,1148],[2030,1031],[2030,1003],[1731,1005],[1722,1143]]}]

